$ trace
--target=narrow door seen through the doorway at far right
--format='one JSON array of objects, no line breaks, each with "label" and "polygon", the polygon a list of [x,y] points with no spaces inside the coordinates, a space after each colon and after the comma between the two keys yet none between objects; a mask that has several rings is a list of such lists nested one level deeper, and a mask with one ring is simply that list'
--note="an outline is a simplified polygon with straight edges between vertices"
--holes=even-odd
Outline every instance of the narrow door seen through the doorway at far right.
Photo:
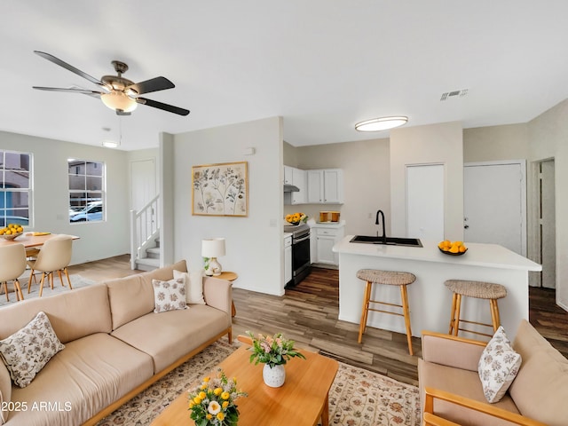
[{"label": "narrow door seen through the doorway at far right", "polygon": [[556,288],[556,215],[554,160],[540,162],[541,286]]}]

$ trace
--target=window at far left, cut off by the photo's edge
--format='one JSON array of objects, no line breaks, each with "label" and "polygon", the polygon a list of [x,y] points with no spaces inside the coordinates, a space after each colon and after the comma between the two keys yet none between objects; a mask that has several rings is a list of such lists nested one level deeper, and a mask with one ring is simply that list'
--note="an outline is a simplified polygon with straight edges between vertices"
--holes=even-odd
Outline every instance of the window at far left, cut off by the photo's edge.
[{"label": "window at far left, cut off by the photo's edge", "polygon": [[0,226],[30,225],[32,154],[0,151]]}]

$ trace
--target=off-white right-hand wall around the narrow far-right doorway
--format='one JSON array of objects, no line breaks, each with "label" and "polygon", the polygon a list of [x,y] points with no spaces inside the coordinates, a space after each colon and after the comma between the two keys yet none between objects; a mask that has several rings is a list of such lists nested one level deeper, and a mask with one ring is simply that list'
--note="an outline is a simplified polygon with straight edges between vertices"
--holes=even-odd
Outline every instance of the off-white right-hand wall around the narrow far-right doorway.
[{"label": "off-white right-hand wall around the narrow far-right doorway", "polygon": [[[568,311],[568,99],[528,123],[530,170],[534,162],[554,158],[556,198],[556,303]],[[534,200],[534,182],[529,185],[529,200]],[[529,224],[529,231],[533,223]],[[529,249],[534,245],[529,232]]]}]

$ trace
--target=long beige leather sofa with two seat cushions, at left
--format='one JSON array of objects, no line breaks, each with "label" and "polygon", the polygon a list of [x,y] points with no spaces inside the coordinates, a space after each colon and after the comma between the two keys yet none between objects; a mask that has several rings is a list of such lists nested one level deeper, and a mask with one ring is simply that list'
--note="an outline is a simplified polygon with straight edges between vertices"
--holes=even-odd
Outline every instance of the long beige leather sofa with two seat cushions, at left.
[{"label": "long beige leather sofa with two seat cushions, at left", "polygon": [[25,388],[0,361],[0,404],[9,426],[95,424],[209,344],[231,342],[231,283],[203,278],[206,304],[154,313],[152,280],[185,261],[0,309],[0,339],[45,312],[65,345]]}]

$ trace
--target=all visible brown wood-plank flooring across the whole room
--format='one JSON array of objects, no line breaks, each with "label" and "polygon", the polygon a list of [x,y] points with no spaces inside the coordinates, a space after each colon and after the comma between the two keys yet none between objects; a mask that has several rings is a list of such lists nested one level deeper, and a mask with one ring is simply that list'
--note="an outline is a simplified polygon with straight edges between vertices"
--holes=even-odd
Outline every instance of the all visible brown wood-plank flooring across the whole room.
[{"label": "all visible brown wood-plank flooring across the whole room", "polygon": [[[128,255],[68,269],[69,273],[91,280],[122,278],[141,272],[130,270]],[[554,290],[531,288],[529,294],[531,323],[568,358],[568,312],[556,306]],[[417,385],[416,366],[422,355],[420,338],[413,337],[414,356],[408,354],[406,335],[376,328],[367,327],[363,343],[359,344],[359,325],[337,319],[338,300],[338,272],[321,268],[314,268],[306,280],[296,288],[287,289],[281,297],[234,288],[237,313],[233,318],[233,335],[248,330],[264,334],[282,332],[302,347]]]}]

